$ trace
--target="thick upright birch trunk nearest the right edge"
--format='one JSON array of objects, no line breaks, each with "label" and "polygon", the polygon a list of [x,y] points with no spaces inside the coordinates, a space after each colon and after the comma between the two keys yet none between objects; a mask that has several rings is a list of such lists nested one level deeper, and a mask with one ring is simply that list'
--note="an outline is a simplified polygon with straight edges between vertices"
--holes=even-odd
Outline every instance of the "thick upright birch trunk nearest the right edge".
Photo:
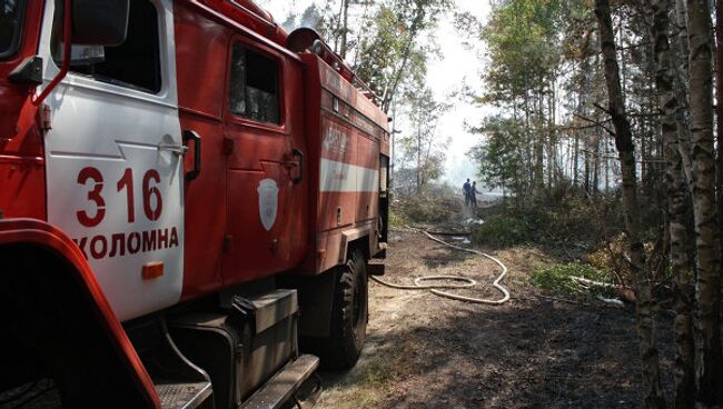
[{"label": "thick upright birch trunk nearest the right edge", "polygon": [[713,149],[713,72],[707,0],[687,0],[693,210],[697,250],[696,372],[699,400],[723,402],[721,271]]}]

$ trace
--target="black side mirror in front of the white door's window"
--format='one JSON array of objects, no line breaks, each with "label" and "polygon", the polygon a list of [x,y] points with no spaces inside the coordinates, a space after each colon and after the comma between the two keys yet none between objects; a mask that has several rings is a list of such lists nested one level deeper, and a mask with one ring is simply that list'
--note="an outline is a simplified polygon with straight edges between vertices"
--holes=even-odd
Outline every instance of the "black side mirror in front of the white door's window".
[{"label": "black side mirror in front of the white door's window", "polygon": [[128,32],[130,0],[73,0],[72,43],[120,46]]}]

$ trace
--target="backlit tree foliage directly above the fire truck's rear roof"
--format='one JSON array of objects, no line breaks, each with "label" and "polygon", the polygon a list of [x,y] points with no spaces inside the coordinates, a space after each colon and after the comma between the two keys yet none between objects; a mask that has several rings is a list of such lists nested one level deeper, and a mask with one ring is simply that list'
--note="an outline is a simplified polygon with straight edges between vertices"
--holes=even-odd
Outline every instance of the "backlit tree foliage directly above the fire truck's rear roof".
[{"label": "backlit tree foliage directly above the fire truck's rear roof", "polygon": [[[261,0],[261,4],[268,1]],[[425,82],[427,58],[436,50],[434,40],[427,39],[452,3],[452,0],[325,0],[291,12],[284,27],[291,30],[305,26],[319,32],[382,98],[386,111],[403,89],[418,88]]]}]

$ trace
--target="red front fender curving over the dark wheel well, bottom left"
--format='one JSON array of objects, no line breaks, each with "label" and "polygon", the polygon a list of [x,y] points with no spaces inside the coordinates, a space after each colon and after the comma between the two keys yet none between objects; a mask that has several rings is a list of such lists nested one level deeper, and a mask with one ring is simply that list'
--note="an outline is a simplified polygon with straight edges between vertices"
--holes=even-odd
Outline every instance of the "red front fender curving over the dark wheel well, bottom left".
[{"label": "red front fender curving over the dark wheel well, bottom left", "polygon": [[[61,230],[47,222],[13,218],[0,219],[0,250],[3,249],[10,255],[17,250],[32,251],[33,255],[37,252],[38,257],[52,259],[53,266],[58,263],[58,273],[66,276],[60,280],[68,282],[71,286],[69,288],[75,287],[85,296],[85,300],[81,301],[83,308],[91,311],[93,320],[98,323],[97,328],[102,331],[97,336],[101,337],[103,342],[107,341],[105,347],[108,347],[111,355],[109,359],[118,363],[119,370],[125,372],[121,377],[128,385],[135,387],[138,400],[145,402],[146,407],[160,408],[160,401],[148,372],[78,246]],[[8,251],[9,249],[12,251]],[[9,263],[0,261],[0,265]],[[0,275],[8,272],[6,269],[0,270]],[[23,277],[31,273],[23,271]],[[58,295],[60,298],[63,296]],[[112,357],[113,352],[115,357]]]}]

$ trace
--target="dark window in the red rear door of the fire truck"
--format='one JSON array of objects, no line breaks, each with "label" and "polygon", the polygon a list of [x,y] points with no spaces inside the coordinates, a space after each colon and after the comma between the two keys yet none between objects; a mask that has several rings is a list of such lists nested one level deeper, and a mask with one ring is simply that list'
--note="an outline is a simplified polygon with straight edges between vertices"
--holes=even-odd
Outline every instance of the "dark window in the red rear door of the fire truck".
[{"label": "dark window in the red rear door of the fire truck", "polygon": [[274,59],[235,43],[229,87],[231,112],[258,122],[279,123],[279,67]]}]

